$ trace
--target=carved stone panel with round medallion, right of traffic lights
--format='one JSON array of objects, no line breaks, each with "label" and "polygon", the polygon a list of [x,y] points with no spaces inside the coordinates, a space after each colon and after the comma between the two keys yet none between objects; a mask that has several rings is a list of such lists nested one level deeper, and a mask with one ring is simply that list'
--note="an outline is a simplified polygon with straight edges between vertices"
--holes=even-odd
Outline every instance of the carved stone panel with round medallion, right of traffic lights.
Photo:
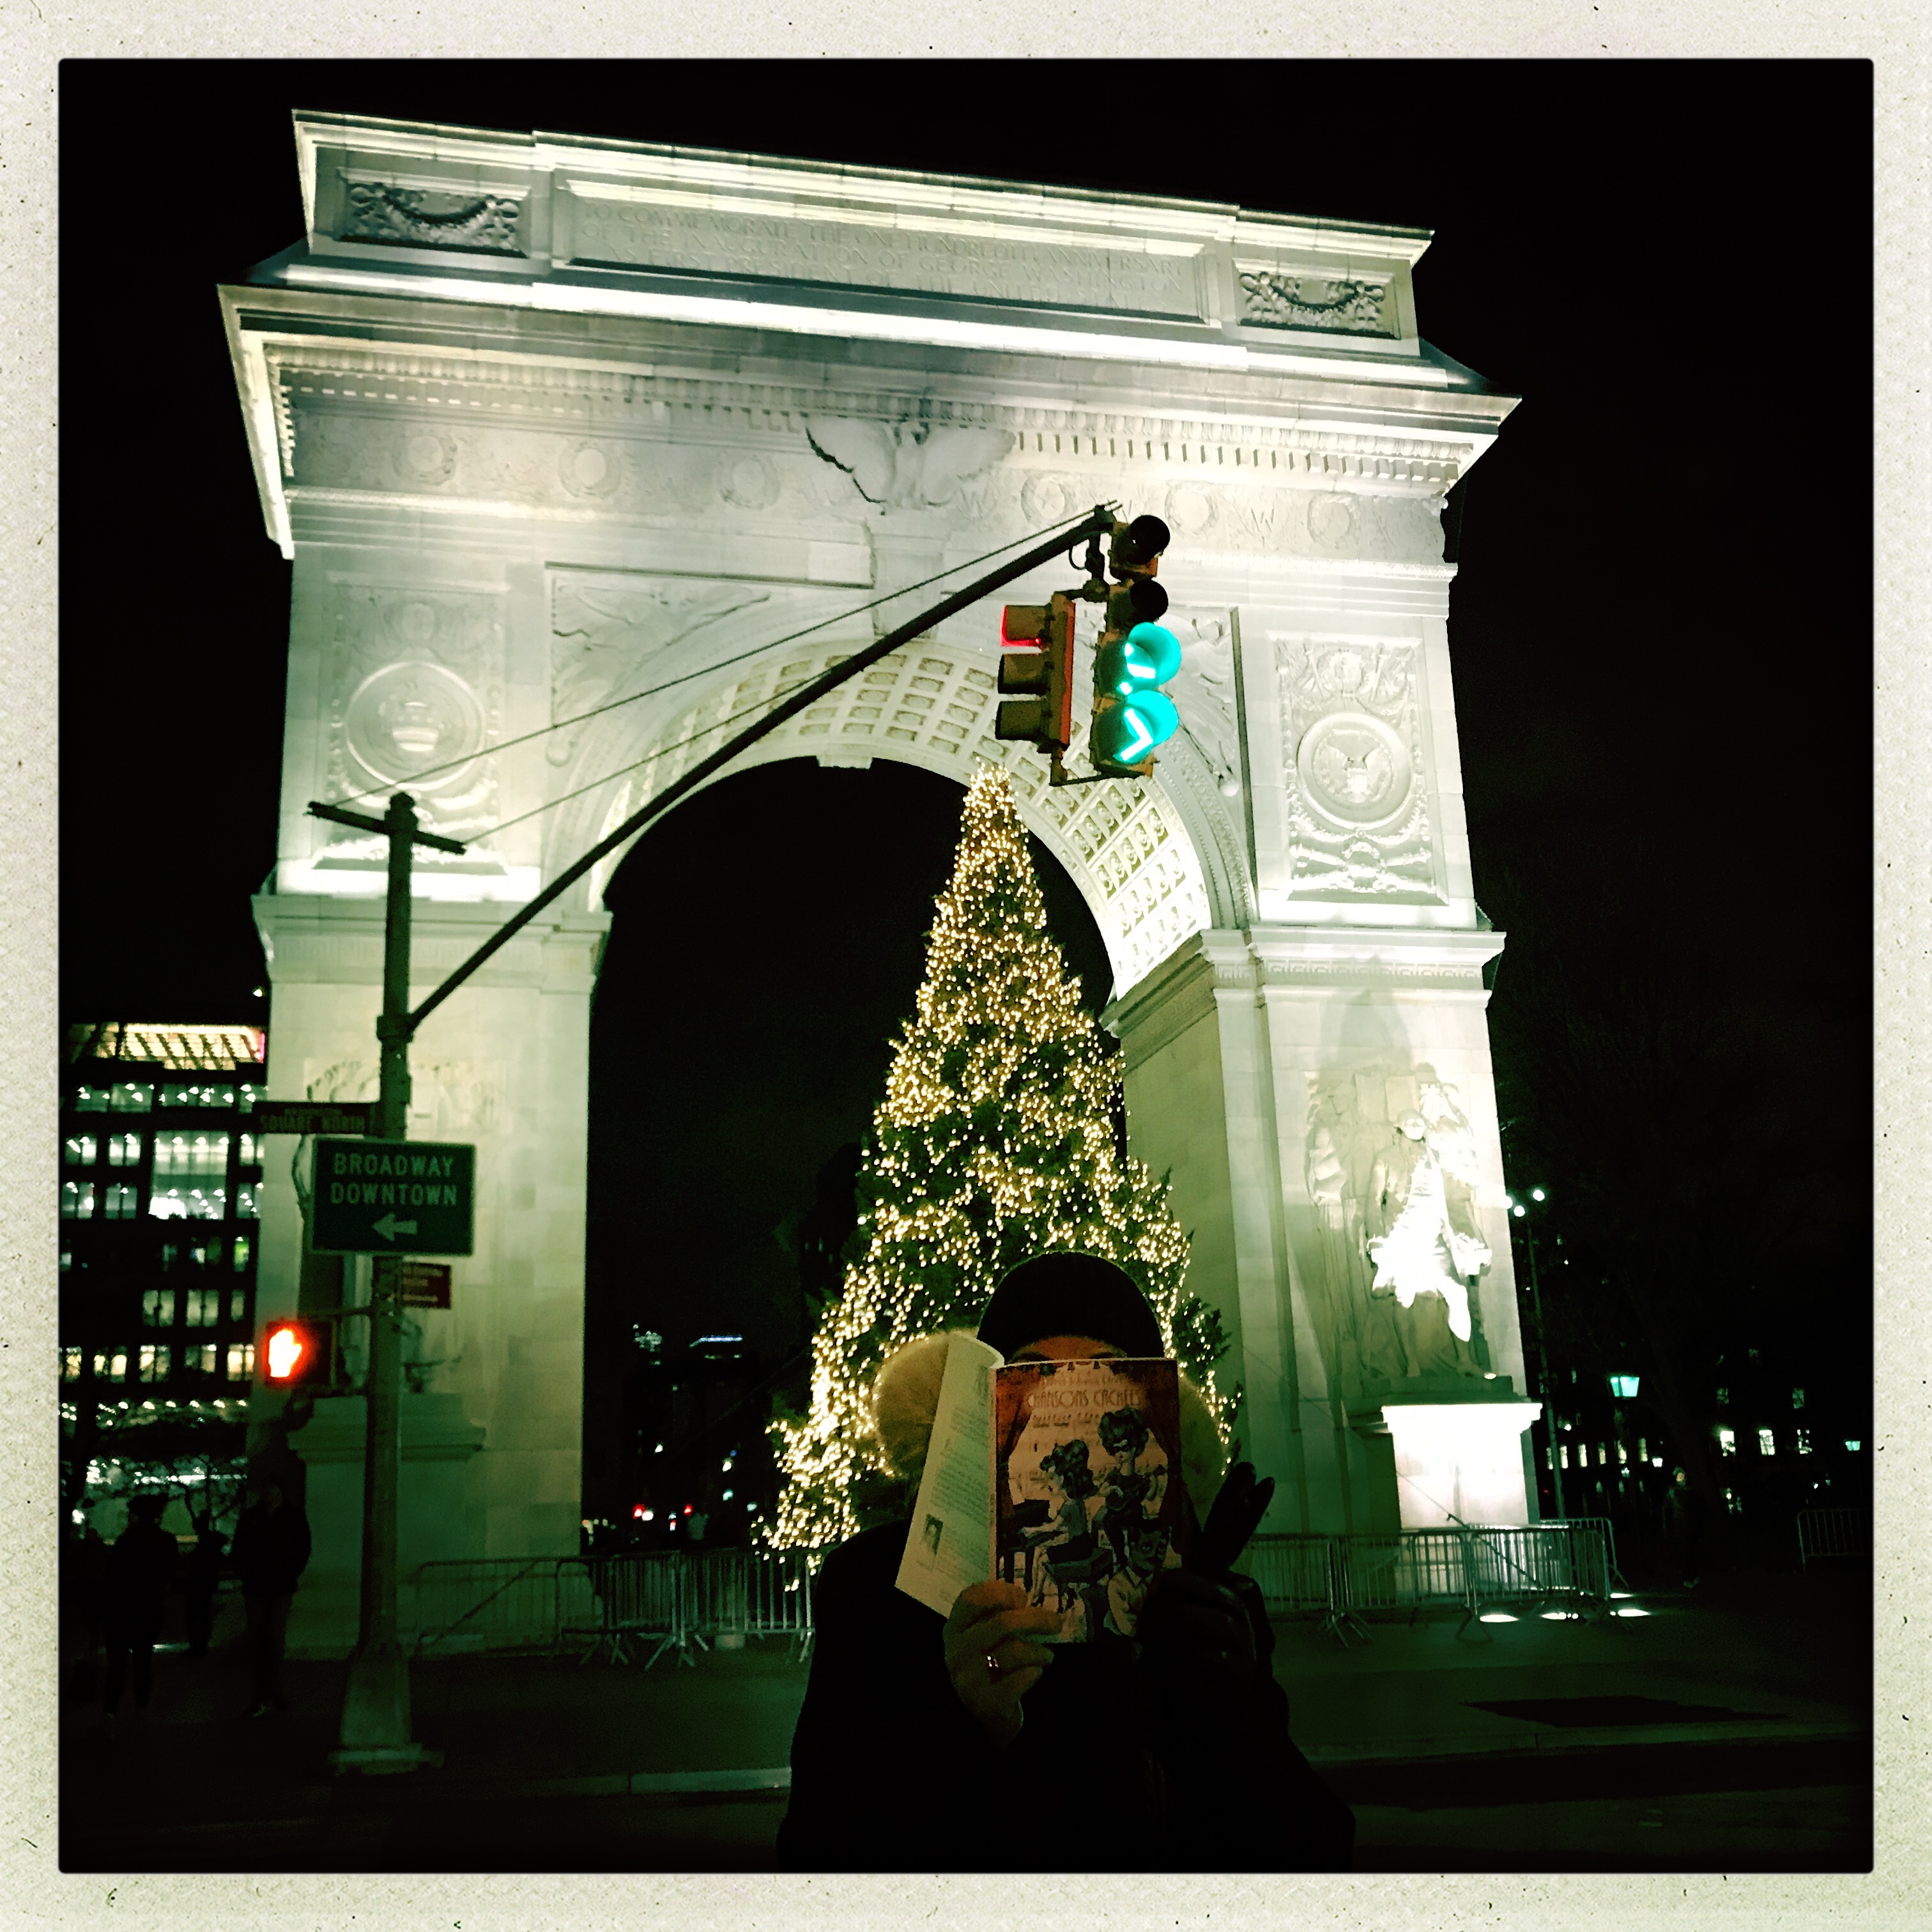
[{"label": "carved stone panel with round medallion, right of traffic lights", "polygon": [[1422,645],[1269,634],[1287,891],[1441,900],[1422,734]]}]

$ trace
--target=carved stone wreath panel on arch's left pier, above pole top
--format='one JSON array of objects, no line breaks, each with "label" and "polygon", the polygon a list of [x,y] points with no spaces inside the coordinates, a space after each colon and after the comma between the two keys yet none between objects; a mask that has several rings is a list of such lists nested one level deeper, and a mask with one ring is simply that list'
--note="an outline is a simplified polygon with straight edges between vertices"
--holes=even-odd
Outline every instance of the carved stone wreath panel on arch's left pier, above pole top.
[{"label": "carved stone wreath panel on arch's left pier, above pole top", "polygon": [[[498,817],[489,746],[504,703],[500,595],[336,578],[328,624],[325,796],[406,786],[431,831],[464,840],[487,833]],[[319,866],[383,864],[381,838],[330,831],[340,837]],[[417,864],[427,862],[419,852]]]}]

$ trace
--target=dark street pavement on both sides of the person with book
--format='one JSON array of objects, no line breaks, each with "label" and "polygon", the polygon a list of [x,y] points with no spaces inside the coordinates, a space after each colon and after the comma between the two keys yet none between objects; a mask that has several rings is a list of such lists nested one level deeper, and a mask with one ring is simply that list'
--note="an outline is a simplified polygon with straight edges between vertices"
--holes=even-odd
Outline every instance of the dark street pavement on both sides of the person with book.
[{"label": "dark street pavement on both sides of the person with book", "polygon": [[[1862,1870],[1870,1592],[1718,1577],[1596,1621],[1277,1625],[1294,1737],[1360,1870]],[[431,1770],[336,1777],[344,1665],[245,1718],[240,1648],[156,1658],[147,1714],[64,1706],[68,1870],[755,1870],[806,1667],[779,1642],[412,1671]]]}]

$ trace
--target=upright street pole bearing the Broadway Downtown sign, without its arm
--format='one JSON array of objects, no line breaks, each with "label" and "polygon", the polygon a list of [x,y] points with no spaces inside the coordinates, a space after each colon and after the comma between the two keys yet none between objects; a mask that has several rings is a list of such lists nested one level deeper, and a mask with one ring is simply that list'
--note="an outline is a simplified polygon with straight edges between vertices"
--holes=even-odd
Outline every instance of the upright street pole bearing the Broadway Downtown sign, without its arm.
[{"label": "upright street pole bearing the Broadway Downtown sign, without its arm", "polygon": [[[388,838],[388,910],[383,922],[383,1014],[375,1022],[381,1045],[381,1084],[373,1140],[406,1140],[410,1130],[410,864],[413,848],[462,852],[454,838],[425,833],[415,800],[396,792],[381,819],[311,804],[319,819],[355,825]],[[410,1725],[410,1660],[396,1634],[396,1507],[402,1476],[402,1327],[396,1285],[398,1256],[371,1256],[369,1374],[365,1381],[367,1435],[363,1441],[361,1619],[350,1656],[348,1696],[342,1700],[342,1741],[330,1754],[336,1770],[408,1772],[431,1762]]]}]

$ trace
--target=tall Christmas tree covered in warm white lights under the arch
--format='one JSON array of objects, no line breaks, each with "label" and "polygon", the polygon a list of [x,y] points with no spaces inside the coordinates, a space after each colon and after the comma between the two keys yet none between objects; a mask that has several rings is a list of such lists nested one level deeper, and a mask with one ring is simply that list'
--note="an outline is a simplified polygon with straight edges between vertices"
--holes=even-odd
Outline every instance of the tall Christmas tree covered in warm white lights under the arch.
[{"label": "tall Christmas tree covered in warm white lights under the arch", "polygon": [[[1028,1256],[1078,1248],[1117,1262],[1169,1350],[1211,1389],[1219,1318],[1182,1293],[1188,1242],[1165,1184],[1115,1144],[1115,1090],[1080,981],[1047,931],[1007,775],[981,767],[925,983],[864,1148],[850,1265],[813,1337],[811,1408],[773,1424],[784,1474],[775,1544],[838,1542],[869,1497],[891,1493],[871,1434],[879,1364],[916,1335],[976,1325]],[[1225,1426],[1233,1403],[1215,1406]]]}]

